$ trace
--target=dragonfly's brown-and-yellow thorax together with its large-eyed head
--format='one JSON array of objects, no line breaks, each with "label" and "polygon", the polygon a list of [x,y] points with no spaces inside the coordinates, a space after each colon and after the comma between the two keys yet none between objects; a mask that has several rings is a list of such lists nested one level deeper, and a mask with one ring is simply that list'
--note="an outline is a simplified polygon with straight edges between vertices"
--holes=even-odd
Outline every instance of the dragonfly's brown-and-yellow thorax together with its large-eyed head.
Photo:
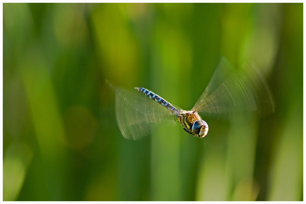
[{"label": "dragonfly's brown-and-yellow thorax together with its large-eyed head", "polygon": [[208,132],[208,125],[202,120],[196,111],[180,110],[176,114],[177,121],[180,122],[186,132],[197,136],[204,137]]}]

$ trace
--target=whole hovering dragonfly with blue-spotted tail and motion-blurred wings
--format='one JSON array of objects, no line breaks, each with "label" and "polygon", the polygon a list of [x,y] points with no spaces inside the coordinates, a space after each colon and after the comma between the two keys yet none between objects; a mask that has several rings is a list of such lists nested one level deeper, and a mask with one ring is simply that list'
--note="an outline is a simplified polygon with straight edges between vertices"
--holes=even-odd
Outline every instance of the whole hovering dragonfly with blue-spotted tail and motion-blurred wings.
[{"label": "whole hovering dragonfly with blue-spotted tail and motion-blurred wings", "polygon": [[[143,87],[131,91],[110,84],[115,93],[115,115],[125,139],[138,140],[149,135],[160,123],[178,122],[189,134],[203,138],[208,124],[201,115],[230,119],[238,113],[264,117],[274,113],[271,89],[255,64],[244,63],[235,69],[226,59],[221,60],[204,92],[190,111],[172,105],[164,98]],[[147,96],[147,97],[145,97]]]}]

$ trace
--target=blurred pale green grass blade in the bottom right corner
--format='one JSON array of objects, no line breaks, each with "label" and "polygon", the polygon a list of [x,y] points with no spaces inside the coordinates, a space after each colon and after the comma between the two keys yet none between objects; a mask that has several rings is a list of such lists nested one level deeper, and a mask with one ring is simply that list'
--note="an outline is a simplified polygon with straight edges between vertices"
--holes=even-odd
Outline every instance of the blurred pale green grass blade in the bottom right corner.
[{"label": "blurred pale green grass blade in the bottom right corner", "polygon": [[270,201],[299,201],[302,193],[303,116],[293,107],[273,159]]}]

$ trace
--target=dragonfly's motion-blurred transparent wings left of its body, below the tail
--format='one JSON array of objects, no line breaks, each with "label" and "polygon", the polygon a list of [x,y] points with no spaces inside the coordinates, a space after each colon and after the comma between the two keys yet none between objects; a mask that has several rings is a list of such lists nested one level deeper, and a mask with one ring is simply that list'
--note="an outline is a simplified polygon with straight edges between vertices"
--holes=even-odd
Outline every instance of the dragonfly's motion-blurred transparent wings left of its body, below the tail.
[{"label": "dragonfly's motion-blurred transparent wings left of its body, below the tail", "polygon": [[114,87],[115,114],[119,129],[125,139],[140,139],[157,124],[174,125],[174,114],[137,90]]}]

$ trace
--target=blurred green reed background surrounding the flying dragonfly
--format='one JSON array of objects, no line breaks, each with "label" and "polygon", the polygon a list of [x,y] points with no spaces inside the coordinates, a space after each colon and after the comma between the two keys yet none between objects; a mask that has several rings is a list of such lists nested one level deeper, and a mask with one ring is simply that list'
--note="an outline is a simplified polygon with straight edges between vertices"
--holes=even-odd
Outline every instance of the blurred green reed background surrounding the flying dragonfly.
[{"label": "blurred green reed background surrounding the flying dragonfly", "polygon": [[[274,114],[122,137],[106,79],[189,110],[221,55]],[[303,200],[303,4],[4,3],[3,200]]]}]

